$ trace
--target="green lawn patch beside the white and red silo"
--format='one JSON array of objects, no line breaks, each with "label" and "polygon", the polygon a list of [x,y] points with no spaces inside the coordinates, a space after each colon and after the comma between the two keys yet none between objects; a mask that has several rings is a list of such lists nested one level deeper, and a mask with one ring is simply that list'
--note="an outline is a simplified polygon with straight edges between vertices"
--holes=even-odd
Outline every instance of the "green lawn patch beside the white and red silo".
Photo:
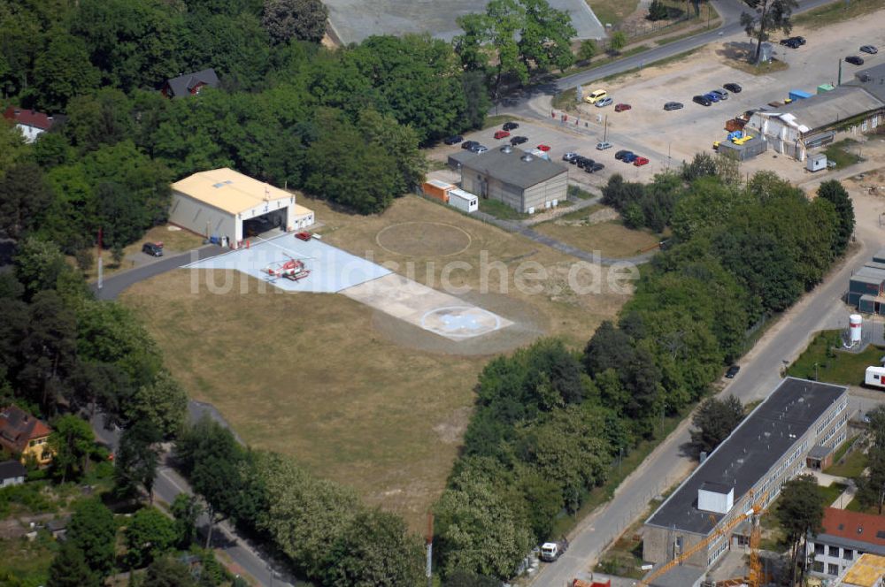
[{"label": "green lawn patch beside the white and red silo", "polygon": [[879,364],[885,349],[871,345],[862,353],[846,353],[834,348],[840,344],[839,336],[838,331],[820,332],[787,374],[841,385],[863,384],[866,368]]}]

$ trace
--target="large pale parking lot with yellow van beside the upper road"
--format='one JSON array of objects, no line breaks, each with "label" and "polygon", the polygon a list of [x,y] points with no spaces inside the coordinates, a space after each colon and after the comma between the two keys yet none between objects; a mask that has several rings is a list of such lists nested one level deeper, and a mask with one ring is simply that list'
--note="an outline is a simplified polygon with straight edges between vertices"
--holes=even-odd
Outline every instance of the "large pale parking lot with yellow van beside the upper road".
[{"label": "large pale parking lot with yellow van beside the upper road", "polygon": [[[597,128],[602,127],[597,115],[607,117],[610,141],[616,147],[623,145],[637,153],[644,149],[651,154],[651,167],[655,167],[656,162],[658,169],[665,167],[668,154],[670,160],[678,164],[683,159],[689,160],[698,151],[710,151],[713,141],[724,140],[727,119],[769,102],[783,101],[792,89],[813,94],[820,84],[837,84],[840,57],[860,55],[865,60],[860,66],[843,63],[843,81],[852,79],[856,72],[885,62],[882,19],[885,19],[885,11],[860,22],[847,22],[817,31],[796,28],[792,34],[804,35],[806,44],[795,50],[778,44],[774,50],[774,57],[789,68],[759,76],[727,65],[729,57],[750,50],[747,37],[735,35],[678,63],[646,69],[613,83],[591,84],[584,88],[585,95],[604,88],[612,96],[613,104],[602,109],[582,104],[579,110],[590,120],[590,125]],[[776,37],[777,40],[780,38]],[[878,55],[860,53],[858,49],[864,44],[877,45],[883,50]],[[723,84],[730,82],[739,84],[743,91],[730,94],[727,100],[710,106],[692,102],[694,95],[722,88]],[[671,101],[683,103],[684,108],[664,111],[664,103]],[[629,103],[632,109],[615,112],[614,104],[617,103]],[[762,159],[770,163],[771,156]],[[748,165],[751,168],[752,163]]]}]

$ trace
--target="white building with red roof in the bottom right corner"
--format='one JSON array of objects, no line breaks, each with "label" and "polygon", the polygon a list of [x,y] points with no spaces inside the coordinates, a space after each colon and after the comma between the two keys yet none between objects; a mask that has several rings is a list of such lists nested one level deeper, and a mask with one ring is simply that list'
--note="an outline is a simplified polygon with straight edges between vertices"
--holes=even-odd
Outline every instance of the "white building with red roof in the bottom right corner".
[{"label": "white building with red roof in the bottom right corner", "polygon": [[823,530],[808,540],[816,575],[840,576],[864,553],[885,555],[885,516],[827,507],[821,525]]}]

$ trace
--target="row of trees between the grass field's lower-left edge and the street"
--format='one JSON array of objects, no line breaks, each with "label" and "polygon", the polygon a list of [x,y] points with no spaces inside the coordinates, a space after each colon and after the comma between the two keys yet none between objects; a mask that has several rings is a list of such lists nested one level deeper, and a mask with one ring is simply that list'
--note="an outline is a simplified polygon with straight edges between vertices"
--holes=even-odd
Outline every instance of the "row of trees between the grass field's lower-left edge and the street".
[{"label": "row of trees between the grass field's lower-left edge and the street", "polygon": [[264,537],[302,576],[340,587],[418,584],[419,537],[402,518],[363,505],[350,488],[278,454],[243,448],[209,419],[181,435],[175,455],[213,524],[228,518]]}]

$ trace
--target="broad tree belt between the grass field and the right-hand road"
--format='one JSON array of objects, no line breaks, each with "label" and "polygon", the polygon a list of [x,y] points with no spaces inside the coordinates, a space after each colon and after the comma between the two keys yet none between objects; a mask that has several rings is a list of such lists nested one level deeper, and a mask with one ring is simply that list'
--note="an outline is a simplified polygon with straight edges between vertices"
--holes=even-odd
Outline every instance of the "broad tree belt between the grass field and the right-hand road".
[{"label": "broad tree belt between the grass field and the right-hand road", "polygon": [[[671,227],[672,246],[581,354],[543,340],[482,371],[463,453],[435,506],[443,573],[512,576],[615,457],[701,400],[753,325],[797,301],[845,250],[854,215],[838,182],[809,200],[772,173],[740,185],[711,163],[698,158],[647,185],[613,176],[606,202],[635,225]],[[712,450],[742,417],[733,398],[704,403],[696,450]]]}]

